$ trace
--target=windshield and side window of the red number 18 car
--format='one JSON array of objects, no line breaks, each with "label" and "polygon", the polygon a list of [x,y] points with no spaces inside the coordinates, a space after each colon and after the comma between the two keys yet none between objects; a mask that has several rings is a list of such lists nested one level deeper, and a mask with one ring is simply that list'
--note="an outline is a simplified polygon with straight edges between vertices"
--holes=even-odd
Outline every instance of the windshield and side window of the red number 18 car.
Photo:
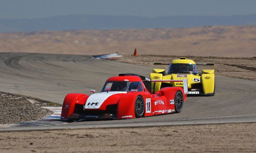
[{"label": "windshield and side window of the red number 18 car", "polygon": [[106,91],[131,91],[137,90],[142,91],[142,84],[138,82],[128,82],[128,81],[106,81],[101,92]]}]

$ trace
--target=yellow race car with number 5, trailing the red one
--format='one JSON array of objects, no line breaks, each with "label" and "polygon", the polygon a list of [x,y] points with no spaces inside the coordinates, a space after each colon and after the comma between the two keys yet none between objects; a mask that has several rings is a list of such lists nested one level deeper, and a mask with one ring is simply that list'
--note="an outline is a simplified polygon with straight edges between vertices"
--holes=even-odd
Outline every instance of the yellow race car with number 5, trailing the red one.
[{"label": "yellow race car with number 5, trailing the red one", "polygon": [[[215,79],[214,69],[202,70],[198,73],[197,65],[214,65],[195,63],[185,57],[173,60],[171,63],[154,63],[154,65],[170,65],[166,73],[165,69],[153,69],[150,73],[151,80],[183,80],[187,79],[188,94],[214,96]],[[183,87],[182,82],[152,82],[151,92],[159,91],[163,87]]]}]

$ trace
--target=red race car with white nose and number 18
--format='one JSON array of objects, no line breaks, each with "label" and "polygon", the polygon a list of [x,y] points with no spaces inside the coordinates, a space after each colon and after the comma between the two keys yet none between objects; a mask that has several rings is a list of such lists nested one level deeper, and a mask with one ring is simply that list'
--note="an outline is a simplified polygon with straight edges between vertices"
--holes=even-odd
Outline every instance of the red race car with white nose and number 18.
[{"label": "red race car with white nose and number 18", "polygon": [[[155,93],[153,82],[183,82],[182,87],[165,87]],[[152,90],[155,91],[155,90]],[[151,80],[138,74],[119,74],[109,78],[100,93],[68,94],[63,102],[61,119],[79,120],[130,119],[180,113],[187,99],[187,79]]]}]

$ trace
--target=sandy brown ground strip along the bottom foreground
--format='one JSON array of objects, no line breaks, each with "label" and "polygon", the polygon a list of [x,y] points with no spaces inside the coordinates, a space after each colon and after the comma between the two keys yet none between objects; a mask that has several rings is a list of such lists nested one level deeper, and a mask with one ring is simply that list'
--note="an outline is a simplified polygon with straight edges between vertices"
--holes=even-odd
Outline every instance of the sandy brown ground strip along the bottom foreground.
[{"label": "sandy brown ground strip along the bottom foreground", "polygon": [[0,152],[256,152],[256,123],[1,132]]}]

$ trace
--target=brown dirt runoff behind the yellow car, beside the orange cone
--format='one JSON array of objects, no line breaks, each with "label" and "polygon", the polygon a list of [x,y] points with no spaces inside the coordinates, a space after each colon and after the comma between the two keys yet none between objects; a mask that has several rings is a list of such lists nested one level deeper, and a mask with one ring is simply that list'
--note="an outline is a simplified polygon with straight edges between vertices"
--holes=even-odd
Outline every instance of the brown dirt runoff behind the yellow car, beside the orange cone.
[{"label": "brown dirt runoff behind the yellow car, beside the orange cone", "polygon": [[[214,66],[198,66],[202,69],[215,69],[216,75],[221,75],[229,78],[256,80],[256,57],[249,58],[231,58],[231,57],[203,57],[203,56],[173,56],[173,55],[138,55],[120,54],[114,61],[124,62],[136,65],[152,66],[155,68],[165,68],[168,70],[168,65],[153,65],[154,62],[171,62],[172,60],[186,57],[194,60],[196,63],[214,63]],[[148,74],[149,75],[149,74]]]}]

